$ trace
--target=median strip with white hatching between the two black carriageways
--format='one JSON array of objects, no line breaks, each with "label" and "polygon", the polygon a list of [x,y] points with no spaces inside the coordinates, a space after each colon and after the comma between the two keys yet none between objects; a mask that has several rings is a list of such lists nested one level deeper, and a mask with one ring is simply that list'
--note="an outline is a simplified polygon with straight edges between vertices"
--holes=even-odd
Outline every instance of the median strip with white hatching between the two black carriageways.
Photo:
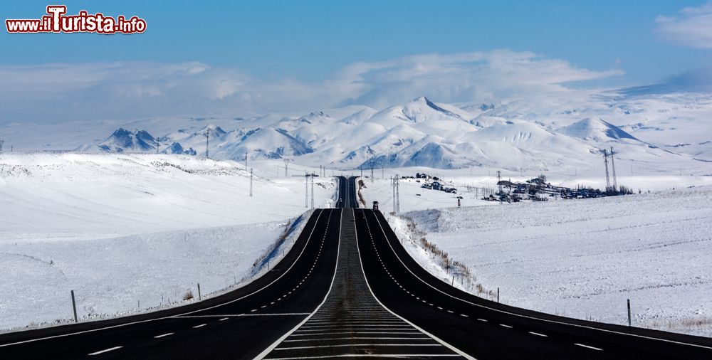
[{"label": "median strip with white hatching between the two black carriageways", "polygon": [[[345,179],[340,179],[341,184]],[[353,179],[342,189],[353,190]],[[345,198],[356,206],[355,191]],[[462,358],[422,329],[405,321],[373,297],[363,273],[354,211],[342,212],[337,271],[324,302],[305,321],[261,354],[265,359],[330,357]]]}]

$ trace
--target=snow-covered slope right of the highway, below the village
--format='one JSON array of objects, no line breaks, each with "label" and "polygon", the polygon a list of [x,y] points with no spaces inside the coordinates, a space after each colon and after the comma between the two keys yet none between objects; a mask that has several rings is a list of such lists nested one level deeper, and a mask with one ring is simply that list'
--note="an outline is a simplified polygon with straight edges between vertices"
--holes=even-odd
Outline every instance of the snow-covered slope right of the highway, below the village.
[{"label": "snow-covered slope right of the highway, below the village", "polygon": [[[452,272],[421,238],[463,264],[456,284],[480,296],[499,287],[508,305],[614,324],[627,324],[630,299],[634,326],[712,336],[712,187],[446,208],[439,205],[446,194],[412,185],[401,185],[401,197],[422,193],[406,201],[432,210],[388,216],[389,223],[435,275]],[[363,190],[367,200],[387,202],[389,191],[378,182]]]}]

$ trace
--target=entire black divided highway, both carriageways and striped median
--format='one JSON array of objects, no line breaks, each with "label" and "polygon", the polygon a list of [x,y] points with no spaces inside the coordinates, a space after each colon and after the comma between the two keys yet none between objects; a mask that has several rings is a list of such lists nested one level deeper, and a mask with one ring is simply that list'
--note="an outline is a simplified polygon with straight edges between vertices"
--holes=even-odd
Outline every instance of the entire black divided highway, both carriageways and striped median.
[{"label": "entire black divided highway, both carriageways and striped median", "polygon": [[0,359],[712,359],[712,339],[483,300],[420,267],[382,213],[337,178],[292,250],[250,284],[192,305],[0,335]]}]

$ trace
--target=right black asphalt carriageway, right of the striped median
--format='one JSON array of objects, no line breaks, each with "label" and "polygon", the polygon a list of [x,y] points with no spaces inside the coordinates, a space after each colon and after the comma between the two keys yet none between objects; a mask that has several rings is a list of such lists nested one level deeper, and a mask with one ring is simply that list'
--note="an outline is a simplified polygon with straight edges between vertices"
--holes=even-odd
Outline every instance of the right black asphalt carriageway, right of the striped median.
[{"label": "right black asphalt carriageway, right of the striped median", "polygon": [[358,245],[375,296],[476,359],[712,359],[709,338],[557,317],[458,290],[408,255],[382,213],[358,211]]}]

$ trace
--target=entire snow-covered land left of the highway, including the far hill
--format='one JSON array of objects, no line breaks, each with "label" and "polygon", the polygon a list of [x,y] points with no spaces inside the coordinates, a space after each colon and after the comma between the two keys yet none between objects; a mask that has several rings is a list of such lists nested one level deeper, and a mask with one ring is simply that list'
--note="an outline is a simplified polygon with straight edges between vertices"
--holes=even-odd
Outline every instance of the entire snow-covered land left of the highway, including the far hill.
[{"label": "entire snow-covered land left of the highway, including the far hill", "polygon": [[[260,275],[300,233],[304,178],[152,154],[0,155],[0,329],[146,311]],[[329,206],[331,179],[315,205]],[[275,250],[276,249],[276,250]],[[194,300],[189,300],[194,301]]]}]

